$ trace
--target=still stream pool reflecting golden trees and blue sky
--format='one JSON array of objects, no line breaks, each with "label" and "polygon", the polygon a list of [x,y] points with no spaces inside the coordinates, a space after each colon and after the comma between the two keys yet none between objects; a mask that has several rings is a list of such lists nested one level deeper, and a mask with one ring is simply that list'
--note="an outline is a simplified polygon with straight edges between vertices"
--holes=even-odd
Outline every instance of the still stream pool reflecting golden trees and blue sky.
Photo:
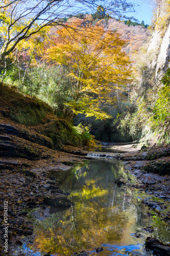
[{"label": "still stream pool reflecting golden trees and blue sky", "polygon": [[[153,225],[147,206],[141,203],[143,192],[115,183],[118,178],[135,179],[126,173],[122,161],[94,158],[51,175],[59,179],[61,189],[70,193],[68,198],[74,205],[61,211],[50,208],[52,217],[37,221],[34,245],[23,246],[27,255],[50,252],[70,256],[82,249],[99,256],[153,255],[143,246],[145,238],[152,236],[143,227]],[[136,232],[141,234],[139,238]],[[97,247],[104,250],[96,253]]]}]

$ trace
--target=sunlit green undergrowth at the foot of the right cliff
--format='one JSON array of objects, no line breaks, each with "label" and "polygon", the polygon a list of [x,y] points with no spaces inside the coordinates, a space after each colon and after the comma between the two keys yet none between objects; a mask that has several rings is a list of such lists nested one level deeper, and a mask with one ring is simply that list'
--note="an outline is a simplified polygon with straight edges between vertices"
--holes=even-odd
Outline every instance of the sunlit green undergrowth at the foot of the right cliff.
[{"label": "sunlit green undergrowth at the foot of the right cliff", "polygon": [[130,136],[133,140],[142,136],[147,139],[148,133],[152,131],[157,144],[170,143],[170,68],[161,79],[163,87],[157,95],[138,100],[135,112],[128,111],[120,117],[118,125],[119,132],[124,136]]}]

